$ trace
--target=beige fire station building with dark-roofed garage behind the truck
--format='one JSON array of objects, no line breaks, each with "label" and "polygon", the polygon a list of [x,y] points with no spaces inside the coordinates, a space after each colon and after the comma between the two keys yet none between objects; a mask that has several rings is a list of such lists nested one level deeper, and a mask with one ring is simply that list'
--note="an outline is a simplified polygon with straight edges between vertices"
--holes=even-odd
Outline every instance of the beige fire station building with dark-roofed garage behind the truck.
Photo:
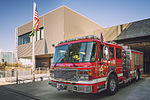
[{"label": "beige fire station building with dark-roofed garage behind the truck", "polygon": [[[104,41],[115,41],[144,52],[144,71],[150,72],[150,19],[103,28],[66,6],[39,17],[40,25],[35,40],[36,67],[49,67],[60,41],[103,33]],[[30,64],[32,57],[32,21],[18,27],[18,59]]]}]

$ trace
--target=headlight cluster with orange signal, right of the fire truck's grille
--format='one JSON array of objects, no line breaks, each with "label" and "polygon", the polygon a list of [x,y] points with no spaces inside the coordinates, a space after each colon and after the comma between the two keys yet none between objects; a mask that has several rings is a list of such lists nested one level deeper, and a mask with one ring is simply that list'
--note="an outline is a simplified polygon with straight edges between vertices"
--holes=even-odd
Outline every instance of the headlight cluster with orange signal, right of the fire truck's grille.
[{"label": "headlight cluster with orange signal, right of the fire truck's grille", "polygon": [[80,70],[79,81],[88,81],[93,79],[93,72],[91,70]]}]

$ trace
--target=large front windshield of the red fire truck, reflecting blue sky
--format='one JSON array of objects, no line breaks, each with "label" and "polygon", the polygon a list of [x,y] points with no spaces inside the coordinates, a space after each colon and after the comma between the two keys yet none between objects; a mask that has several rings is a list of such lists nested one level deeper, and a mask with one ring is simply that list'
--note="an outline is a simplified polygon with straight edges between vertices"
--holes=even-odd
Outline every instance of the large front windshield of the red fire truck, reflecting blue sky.
[{"label": "large front windshield of the red fire truck, reflecting blue sky", "polygon": [[[96,42],[80,42],[70,45],[58,46],[55,49],[53,63],[78,62],[94,62],[96,60],[97,43]],[[63,56],[67,53],[67,56]]]}]

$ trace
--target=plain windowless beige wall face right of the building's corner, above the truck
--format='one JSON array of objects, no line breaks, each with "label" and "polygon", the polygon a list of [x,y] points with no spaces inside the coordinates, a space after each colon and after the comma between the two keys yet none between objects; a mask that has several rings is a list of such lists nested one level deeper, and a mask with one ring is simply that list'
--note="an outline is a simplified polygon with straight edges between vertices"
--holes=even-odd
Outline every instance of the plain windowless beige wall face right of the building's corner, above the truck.
[{"label": "plain windowless beige wall face right of the building's corner, above the truck", "polygon": [[64,8],[64,22],[64,39],[85,35],[100,36],[103,32],[103,27],[67,7]]}]

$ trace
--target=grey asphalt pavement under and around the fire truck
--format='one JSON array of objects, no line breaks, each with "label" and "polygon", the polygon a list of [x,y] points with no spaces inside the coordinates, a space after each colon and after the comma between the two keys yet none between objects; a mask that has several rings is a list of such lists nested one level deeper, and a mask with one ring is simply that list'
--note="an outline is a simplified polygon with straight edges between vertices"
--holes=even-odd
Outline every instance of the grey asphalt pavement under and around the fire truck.
[{"label": "grey asphalt pavement under and around the fire truck", "polygon": [[70,93],[57,91],[48,85],[48,81],[14,84],[0,87],[0,100],[149,100],[150,78],[126,86],[121,85],[114,96],[106,91],[98,94]]}]

